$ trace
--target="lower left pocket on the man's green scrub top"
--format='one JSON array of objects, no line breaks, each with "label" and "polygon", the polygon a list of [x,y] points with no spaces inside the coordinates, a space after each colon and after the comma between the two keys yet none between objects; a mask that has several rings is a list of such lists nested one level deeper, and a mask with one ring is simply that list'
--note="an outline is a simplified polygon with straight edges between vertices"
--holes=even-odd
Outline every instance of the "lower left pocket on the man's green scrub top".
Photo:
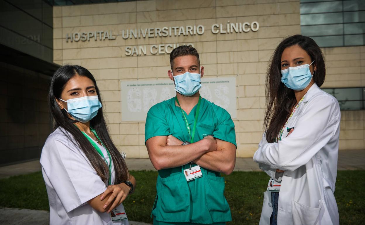
[{"label": "lower left pocket on the man's green scrub top", "polygon": [[185,212],[190,204],[190,193],[184,175],[161,178],[158,200],[164,213]]}]

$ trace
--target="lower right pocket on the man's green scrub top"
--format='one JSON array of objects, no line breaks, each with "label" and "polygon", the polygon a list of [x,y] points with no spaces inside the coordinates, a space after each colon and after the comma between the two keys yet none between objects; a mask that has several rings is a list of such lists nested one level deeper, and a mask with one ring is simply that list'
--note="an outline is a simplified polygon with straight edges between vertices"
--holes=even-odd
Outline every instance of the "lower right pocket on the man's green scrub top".
[{"label": "lower right pocket on the man's green scrub top", "polygon": [[207,209],[212,212],[228,212],[229,205],[224,197],[224,177],[204,175],[205,200]]}]

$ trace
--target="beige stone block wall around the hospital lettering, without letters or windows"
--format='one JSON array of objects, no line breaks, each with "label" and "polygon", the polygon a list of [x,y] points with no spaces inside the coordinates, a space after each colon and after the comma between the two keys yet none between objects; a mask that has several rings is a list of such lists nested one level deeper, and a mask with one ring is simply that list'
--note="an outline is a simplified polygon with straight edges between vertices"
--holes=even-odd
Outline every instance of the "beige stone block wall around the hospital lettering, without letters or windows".
[{"label": "beige stone block wall around the hospital lettering, without letters or windows", "polygon": [[[144,121],[121,121],[121,81],[168,79],[168,54],[151,54],[159,44],[192,43],[204,78],[236,76],[237,156],[252,157],[262,138],[265,79],[270,57],[286,36],[300,33],[299,1],[148,0],[54,7],[54,62],[80,64],[95,76],[112,139],[127,157],[148,158]],[[212,34],[212,24],[257,21],[256,32]],[[203,35],[122,38],[123,30],[203,25]],[[74,32],[113,31],[116,40],[66,42]],[[126,55],[127,46],[146,45],[146,55]],[[365,86],[365,47],[323,48],[323,87]],[[203,79],[204,79],[203,78]],[[364,148],[364,112],[343,111],[340,148]],[[357,133],[356,133],[357,132]],[[362,138],[362,139],[361,139]]]}]

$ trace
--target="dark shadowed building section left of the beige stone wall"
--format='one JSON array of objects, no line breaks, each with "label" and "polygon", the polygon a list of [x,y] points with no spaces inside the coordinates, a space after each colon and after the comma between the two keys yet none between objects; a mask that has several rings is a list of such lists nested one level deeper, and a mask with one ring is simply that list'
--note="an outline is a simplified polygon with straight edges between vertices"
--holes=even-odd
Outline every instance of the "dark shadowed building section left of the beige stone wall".
[{"label": "dark shadowed building section left of the beige stone wall", "polygon": [[43,0],[0,0],[0,166],[37,159],[51,131],[47,94],[53,9]]}]

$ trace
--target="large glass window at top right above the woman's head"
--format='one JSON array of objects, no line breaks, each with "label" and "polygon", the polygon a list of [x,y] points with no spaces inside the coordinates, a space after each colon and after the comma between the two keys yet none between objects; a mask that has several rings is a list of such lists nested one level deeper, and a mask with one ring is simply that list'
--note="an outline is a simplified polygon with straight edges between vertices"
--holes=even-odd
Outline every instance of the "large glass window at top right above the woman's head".
[{"label": "large glass window at top right above the woman's head", "polygon": [[320,47],[364,45],[365,0],[300,0],[300,29]]}]

